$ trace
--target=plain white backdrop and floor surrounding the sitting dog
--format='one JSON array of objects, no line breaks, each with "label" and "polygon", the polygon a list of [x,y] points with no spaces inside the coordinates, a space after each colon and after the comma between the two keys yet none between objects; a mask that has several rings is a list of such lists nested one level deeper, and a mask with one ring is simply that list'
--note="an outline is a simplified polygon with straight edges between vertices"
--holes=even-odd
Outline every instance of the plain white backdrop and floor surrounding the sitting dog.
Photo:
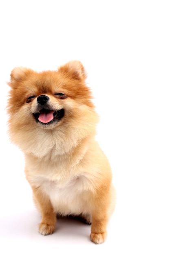
[{"label": "plain white backdrop and floor surrounding the sitting dog", "polygon": [[[15,0],[0,3],[0,254],[170,255],[170,7],[166,0]],[[40,214],[22,153],[7,137],[9,74],[56,70],[73,59],[88,72],[101,120],[97,139],[113,169],[117,207],[102,245],[90,227]],[[2,252],[1,252],[2,251]]]}]

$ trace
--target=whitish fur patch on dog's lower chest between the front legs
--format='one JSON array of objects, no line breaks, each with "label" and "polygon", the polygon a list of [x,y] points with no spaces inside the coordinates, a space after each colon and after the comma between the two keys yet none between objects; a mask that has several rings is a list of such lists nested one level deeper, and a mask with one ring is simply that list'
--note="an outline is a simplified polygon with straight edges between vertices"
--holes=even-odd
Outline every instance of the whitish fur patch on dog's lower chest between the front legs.
[{"label": "whitish fur patch on dog's lower chest between the front legs", "polygon": [[41,178],[38,183],[42,191],[49,196],[56,213],[64,216],[91,212],[89,192],[93,190],[93,186],[85,175],[58,181]]}]

